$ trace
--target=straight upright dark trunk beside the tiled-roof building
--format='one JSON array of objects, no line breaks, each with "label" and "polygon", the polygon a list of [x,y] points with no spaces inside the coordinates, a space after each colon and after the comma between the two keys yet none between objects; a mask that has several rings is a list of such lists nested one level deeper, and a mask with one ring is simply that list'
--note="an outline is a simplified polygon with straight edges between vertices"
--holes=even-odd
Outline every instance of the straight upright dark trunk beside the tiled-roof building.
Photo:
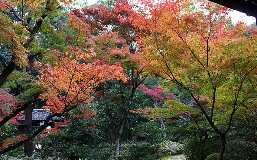
[{"label": "straight upright dark trunk beside the tiled-roof building", "polygon": [[[33,52],[30,52],[28,55],[28,67],[26,68],[26,72],[29,75],[32,75],[33,71],[33,61],[34,61],[34,56]],[[29,104],[25,109],[24,109],[24,116],[25,116],[25,122],[24,122],[24,134],[26,136],[30,136],[33,133],[33,124],[32,124],[32,107],[33,104]],[[33,139],[28,140],[24,143],[24,152],[28,156],[32,156],[33,152]]]}]

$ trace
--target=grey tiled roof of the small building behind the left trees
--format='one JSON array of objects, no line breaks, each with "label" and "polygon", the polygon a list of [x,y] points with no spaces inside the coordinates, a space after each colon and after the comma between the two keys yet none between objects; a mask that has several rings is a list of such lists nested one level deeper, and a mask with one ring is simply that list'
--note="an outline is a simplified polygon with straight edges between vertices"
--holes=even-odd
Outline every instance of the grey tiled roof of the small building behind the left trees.
[{"label": "grey tiled roof of the small building behind the left trees", "polygon": [[[49,109],[33,109],[32,111],[32,121],[45,121],[47,116],[52,114]],[[22,120],[25,120],[25,117],[21,117]],[[65,119],[64,117],[53,117],[53,120],[63,120]]]}]

